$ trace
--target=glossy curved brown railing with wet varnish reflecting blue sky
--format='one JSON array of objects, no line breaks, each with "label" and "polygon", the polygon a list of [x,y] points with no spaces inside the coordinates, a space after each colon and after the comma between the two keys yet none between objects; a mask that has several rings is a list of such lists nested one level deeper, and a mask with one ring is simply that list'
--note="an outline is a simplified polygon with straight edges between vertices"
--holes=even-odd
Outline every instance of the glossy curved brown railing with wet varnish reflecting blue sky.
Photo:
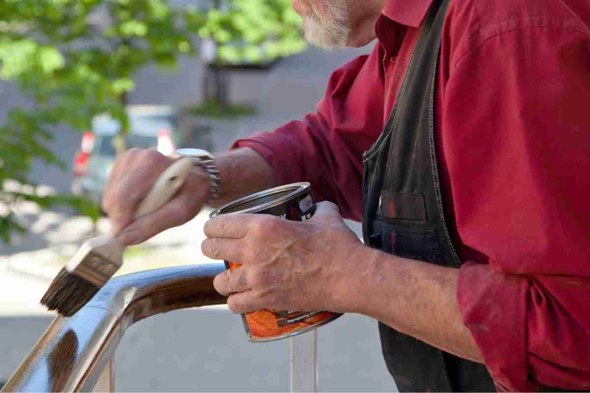
[{"label": "glossy curved brown railing with wet varnish reflecting blue sky", "polygon": [[224,304],[213,288],[224,269],[221,263],[179,266],[110,280],[76,315],[55,318],[2,392],[91,391],[104,378],[109,385],[126,329],[162,312]]}]

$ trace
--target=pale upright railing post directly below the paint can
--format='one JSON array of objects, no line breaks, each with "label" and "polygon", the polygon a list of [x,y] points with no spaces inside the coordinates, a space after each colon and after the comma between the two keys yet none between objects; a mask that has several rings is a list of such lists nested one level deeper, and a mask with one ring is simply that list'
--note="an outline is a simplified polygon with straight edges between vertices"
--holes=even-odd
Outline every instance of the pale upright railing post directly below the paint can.
[{"label": "pale upright railing post directly below the paint can", "polygon": [[291,392],[317,392],[317,329],[291,337]]}]

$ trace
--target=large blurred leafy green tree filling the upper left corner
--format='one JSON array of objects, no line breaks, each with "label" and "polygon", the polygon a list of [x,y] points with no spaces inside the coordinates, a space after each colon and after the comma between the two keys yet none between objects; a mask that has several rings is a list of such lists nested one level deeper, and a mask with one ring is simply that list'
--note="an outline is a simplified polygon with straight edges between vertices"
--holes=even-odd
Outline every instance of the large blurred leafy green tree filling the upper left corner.
[{"label": "large blurred leafy green tree filling the upper left corner", "polygon": [[[0,77],[17,82],[32,102],[0,127],[0,239],[24,232],[14,214],[22,200],[73,204],[96,221],[93,203],[31,184],[32,163],[65,168],[47,146],[58,126],[88,130],[95,115],[109,113],[126,133],[135,72],[150,63],[173,67],[178,55],[194,53],[190,37],[204,22],[198,9],[166,0],[0,1]],[[125,138],[117,140],[124,150]]]}]

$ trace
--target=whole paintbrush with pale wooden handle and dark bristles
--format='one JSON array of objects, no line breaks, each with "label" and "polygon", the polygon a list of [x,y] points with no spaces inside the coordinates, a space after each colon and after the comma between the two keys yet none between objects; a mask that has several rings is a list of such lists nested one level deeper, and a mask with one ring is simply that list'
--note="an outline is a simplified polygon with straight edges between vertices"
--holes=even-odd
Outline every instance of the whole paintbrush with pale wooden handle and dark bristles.
[{"label": "whole paintbrush with pale wooden handle and dark bristles", "polygon": [[[169,166],[140,202],[134,219],[155,212],[168,202],[193,166],[191,158],[181,158]],[[123,243],[112,235],[87,240],[55,276],[41,304],[61,315],[74,315],[123,265],[124,249]]]}]

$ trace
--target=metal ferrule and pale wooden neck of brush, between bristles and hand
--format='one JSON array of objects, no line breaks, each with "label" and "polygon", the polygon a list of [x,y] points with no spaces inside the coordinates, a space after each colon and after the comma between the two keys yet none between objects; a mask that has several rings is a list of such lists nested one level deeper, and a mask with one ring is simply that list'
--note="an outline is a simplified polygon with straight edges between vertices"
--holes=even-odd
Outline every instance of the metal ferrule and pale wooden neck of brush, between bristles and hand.
[{"label": "metal ferrule and pale wooden neck of brush, between bristles and hand", "polygon": [[112,236],[96,237],[84,243],[64,268],[100,288],[123,265],[123,250]]}]

